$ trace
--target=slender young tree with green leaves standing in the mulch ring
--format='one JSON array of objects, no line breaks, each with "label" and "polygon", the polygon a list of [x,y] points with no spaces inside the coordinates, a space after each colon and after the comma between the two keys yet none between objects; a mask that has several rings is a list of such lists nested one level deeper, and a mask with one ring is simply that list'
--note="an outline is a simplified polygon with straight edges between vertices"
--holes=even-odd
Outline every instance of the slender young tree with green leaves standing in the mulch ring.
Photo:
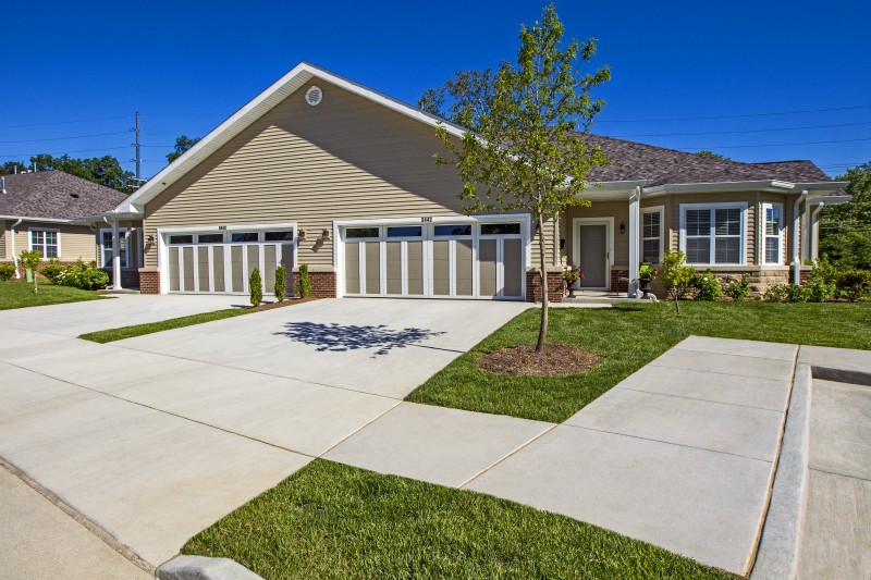
[{"label": "slender young tree with green leaves standing in the mulch ring", "polygon": [[608,66],[594,73],[581,67],[596,54],[596,39],[563,47],[564,26],[553,4],[541,22],[520,27],[517,63],[503,62],[492,72],[457,73],[443,87],[427,91],[420,106],[444,111],[469,129],[459,143],[444,125],[437,129],[449,158],[464,182],[466,213],[524,211],[531,214],[538,235],[541,267],[541,324],[536,353],[548,337],[548,276],[543,229],[572,206],[589,205],[581,194],[591,168],[604,165],[601,149],[588,146],[586,131],[604,104],[590,91],[611,77]]}]

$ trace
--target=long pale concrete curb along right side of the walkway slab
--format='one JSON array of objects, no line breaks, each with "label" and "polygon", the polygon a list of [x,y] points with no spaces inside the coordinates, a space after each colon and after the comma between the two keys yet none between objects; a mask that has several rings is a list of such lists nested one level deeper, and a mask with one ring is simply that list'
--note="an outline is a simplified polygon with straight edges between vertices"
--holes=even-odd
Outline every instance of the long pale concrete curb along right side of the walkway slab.
[{"label": "long pale concrete curb along right side of the walkway slab", "polygon": [[811,367],[799,363],[789,397],[781,456],[750,580],[793,580],[808,495]]}]

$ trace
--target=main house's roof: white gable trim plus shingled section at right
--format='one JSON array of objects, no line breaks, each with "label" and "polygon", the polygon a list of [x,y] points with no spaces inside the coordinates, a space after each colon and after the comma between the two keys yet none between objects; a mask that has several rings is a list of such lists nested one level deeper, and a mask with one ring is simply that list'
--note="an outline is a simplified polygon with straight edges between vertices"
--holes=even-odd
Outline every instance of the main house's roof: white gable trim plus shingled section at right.
[{"label": "main house's roof: white gable trim plus shingled section at right", "polygon": [[[372,90],[311,63],[300,62],[127,197],[114,212],[131,217],[142,214],[144,206],[148,201],[160,195],[220,147],[316,77],[432,127],[441,124],[447,129],[449,134],[456,137],[462,137],[466,132],[458,125],[426,113],[406,102]],[[777,184],[778,187],[790,189],[795,193],[798,193],[794,189],[796,183],[821,184],[821,182],[826,182],[831,183],[833,190],[839,186],[838,182],[832,181],[810,161],[741,163],[613,137],[592,134],[579,135],[587,139],[588,143],[602,147],[605,156],[613,161],[609,166],[594,168],[589,178],[590,182],[638,182],[645,183],[646,187],[654,187],[665,184],[777,181],[780,182]],[[829,187],[826,186],[825,188]]]}]

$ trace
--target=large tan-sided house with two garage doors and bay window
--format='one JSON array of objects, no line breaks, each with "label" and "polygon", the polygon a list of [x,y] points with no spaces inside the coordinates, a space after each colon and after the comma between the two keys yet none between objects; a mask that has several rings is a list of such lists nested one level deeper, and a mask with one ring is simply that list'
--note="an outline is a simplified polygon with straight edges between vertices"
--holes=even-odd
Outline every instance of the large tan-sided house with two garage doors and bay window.
[{"label": "large tan-sided house with two garage doors and bay window", "polygon": [[[319,296],[539,298],[530,217],[462,213],[454,169],[433,160],[440,122],[302,63],[90,221],[143,224],[142,292],[243,294],[255,267],[269,292],[279,263],[307,263]],[[809,161],[585,138],[613,164],[591,176],[591,207],[545,224],[554,299],[566,264],[584,287],[635,294],[639,262],[678,248],[759,287],[785,282],[790,262],[815,256],[819,207],[846,199]]]}]

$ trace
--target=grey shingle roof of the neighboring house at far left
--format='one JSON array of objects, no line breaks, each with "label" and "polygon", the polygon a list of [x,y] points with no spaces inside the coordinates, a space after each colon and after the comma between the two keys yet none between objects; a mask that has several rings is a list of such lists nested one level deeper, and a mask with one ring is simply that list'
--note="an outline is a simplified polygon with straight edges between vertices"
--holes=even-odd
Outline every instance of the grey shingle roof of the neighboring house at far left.
[{"label": "grey shingle roof of the neighboring house at far left", "polygon": [[5,176],[0,217],[74,220],[115,208],[127,197],[103,185],[62,171]]}]

